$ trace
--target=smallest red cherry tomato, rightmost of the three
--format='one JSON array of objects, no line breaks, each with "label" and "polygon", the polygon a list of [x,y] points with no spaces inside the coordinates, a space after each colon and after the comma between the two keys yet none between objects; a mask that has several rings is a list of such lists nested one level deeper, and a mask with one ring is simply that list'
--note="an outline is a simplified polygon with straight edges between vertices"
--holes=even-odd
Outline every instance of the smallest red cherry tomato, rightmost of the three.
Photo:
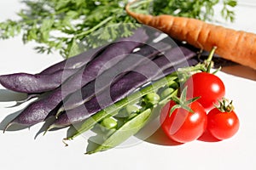
[{"label": "smallest red cherry tomato, rightmost of the three", "polygon": [[212,109],[207,115],[207,130],[217,139],[229,139],[239,129],[239,119],[234,111],[222,112]]}]

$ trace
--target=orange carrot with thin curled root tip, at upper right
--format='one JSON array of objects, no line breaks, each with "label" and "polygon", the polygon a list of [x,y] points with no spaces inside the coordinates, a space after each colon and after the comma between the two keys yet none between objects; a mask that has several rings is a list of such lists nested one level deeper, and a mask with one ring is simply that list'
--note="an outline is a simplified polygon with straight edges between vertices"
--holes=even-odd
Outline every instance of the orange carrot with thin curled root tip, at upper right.
[{"label": "orange carrot with thin curled root tip, at upper right", "polygon": [[196,48],[210,51],[216,46],[216,54],[219,56],[256,70],[256,34],[185,17],[137,14],[130,10],[131,3],[126,5],[125,10],[138,22],[159,29],[179,41],[188,42]]}]

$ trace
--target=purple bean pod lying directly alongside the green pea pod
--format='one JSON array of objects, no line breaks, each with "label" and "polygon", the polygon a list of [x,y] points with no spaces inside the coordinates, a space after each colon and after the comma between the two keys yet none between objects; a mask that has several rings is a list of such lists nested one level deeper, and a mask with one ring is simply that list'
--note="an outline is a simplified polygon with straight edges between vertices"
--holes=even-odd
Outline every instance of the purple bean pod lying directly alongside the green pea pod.
[{"label": "purple bean pod lying directly alongside the green pea pod", "polygon": [[67,127],[73,123],[84,121],[89,116],[96,114],[96,112],[113,105],[119,99],[125,98],[135,89],[143,86],[143,84],[154,80],[155,77],[164,77],[166,69],[172,68],[172,71],[175,71],[175,68],[180,66],[188,66],[189,59],[195,55],[195,52],[190,51],[188,48],[172,48],[165,55],[154,59],[154,62],[140,65],[134,71],[130,71],[119,81],[114,82],[109,91],[104,91],[84,103],[84,105],[61,114],[50,128]]}]

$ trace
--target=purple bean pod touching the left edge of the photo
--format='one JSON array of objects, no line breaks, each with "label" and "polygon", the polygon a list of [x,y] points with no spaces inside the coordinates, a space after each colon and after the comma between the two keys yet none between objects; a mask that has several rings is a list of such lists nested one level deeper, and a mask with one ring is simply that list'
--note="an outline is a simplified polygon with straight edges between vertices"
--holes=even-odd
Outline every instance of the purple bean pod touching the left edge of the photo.
[{"label": "purple bean pod touching the left edge of the photo", "polygon": [[15,73],[0,76],[0,84],[4,88],[26,94],[40,94],[53,90],[58,88],[68,77],[79,71],[81,66],[86,65],[96,57],[103,48],[105,46],[65,59],[38,74]]}]

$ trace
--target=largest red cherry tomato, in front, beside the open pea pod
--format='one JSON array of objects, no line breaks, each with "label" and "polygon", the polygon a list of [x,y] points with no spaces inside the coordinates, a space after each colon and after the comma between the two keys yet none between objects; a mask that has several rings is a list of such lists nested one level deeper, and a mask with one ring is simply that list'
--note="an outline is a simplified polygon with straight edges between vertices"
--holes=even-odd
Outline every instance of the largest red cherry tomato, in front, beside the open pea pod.
[{"label": "largest red cherry tomato, in front, beside the open pea pod", "polygon": [[174,110],[169,116],[174,101],[168,102],[160,112],[160,123],[166,135],[179,143],[187,143],[198,139],[207,128],[207,113],[197,101],[189,104],[194,113],[183,108]]}]

